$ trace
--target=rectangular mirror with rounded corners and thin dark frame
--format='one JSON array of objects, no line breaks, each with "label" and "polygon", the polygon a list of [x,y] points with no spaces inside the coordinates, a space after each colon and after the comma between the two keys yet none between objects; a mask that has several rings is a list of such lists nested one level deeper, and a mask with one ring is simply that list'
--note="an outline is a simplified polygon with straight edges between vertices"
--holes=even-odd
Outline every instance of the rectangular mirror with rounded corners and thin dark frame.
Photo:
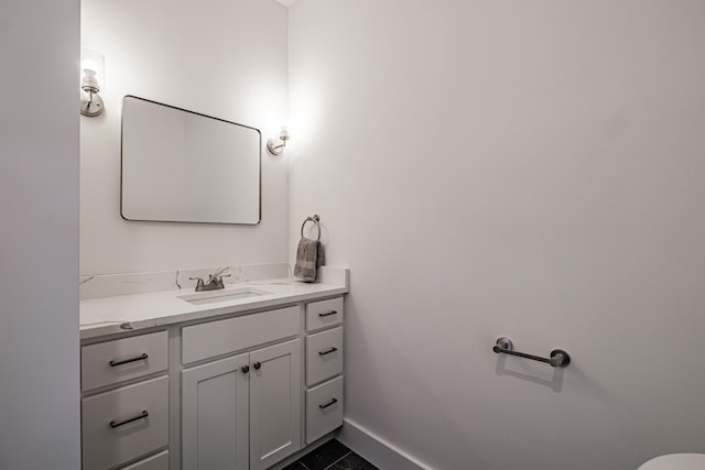
[{"label": "rectangular mirror with rounded corners and thin dark frame", "polygon": [[260,222],[261,133],[143,98],[122,102],[126,220]]}]

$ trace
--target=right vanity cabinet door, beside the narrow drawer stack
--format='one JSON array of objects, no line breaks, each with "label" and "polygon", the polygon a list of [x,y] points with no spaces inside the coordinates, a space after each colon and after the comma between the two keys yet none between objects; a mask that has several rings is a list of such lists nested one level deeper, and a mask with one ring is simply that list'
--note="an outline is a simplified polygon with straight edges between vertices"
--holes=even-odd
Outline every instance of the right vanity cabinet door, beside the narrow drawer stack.
[{"label": "right vanity cabinet door, beside the narrow drawer stack", "polygon": [[250,470],[301,449],[301,340],[250,353]]}]

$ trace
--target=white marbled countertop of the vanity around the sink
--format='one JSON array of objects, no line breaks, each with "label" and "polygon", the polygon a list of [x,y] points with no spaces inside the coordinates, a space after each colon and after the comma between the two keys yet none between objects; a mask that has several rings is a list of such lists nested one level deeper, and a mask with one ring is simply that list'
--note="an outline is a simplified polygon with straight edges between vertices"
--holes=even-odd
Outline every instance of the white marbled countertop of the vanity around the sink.
[{"label": "white marbled countertop of the vanity around the sink", "polygon": [[292,278],[228,284],[225,289],[212,292],[214,295],[223,295],[229,291],[237,292],[246,287],[264,291],[265,293],[202,305],[193,305],[178,298],[180,296],[193,294],[192,289],[172,289],[84,299],[80,300],[80,338],[95,338],[198,320],[218,315],[278,307],[348,292],[347,282],[340,284],[303,283]]}]

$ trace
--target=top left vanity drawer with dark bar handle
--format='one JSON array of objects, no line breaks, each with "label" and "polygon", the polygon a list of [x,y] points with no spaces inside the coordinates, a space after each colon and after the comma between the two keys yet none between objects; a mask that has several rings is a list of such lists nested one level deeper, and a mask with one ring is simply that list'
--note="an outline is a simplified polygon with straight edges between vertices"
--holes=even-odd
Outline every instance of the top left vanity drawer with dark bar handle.
[{"label": "top left vanity drawer with dark bar handle", "polygon": [[169,367],[166,331],[133,336],[80,348],[80,389],[137,379]]}]

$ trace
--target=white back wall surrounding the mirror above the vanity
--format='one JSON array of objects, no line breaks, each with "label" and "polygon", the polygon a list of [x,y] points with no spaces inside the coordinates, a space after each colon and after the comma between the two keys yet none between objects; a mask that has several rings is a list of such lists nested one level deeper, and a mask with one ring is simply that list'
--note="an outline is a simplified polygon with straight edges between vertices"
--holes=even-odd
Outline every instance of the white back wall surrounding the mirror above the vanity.
[{"label": "white back wall surrounding the mirror above the vanity", "polygon": [[[80,120],[80,273],[281,263],[289,168],[262,153],[262,222],[215,226],[120,217],[122,97],[256,127],[286,116],[286,9],[274,0],[82,2],[82,44],[106,57],[106,111]],[[273,128],[273,129],[272,129]]]}]

